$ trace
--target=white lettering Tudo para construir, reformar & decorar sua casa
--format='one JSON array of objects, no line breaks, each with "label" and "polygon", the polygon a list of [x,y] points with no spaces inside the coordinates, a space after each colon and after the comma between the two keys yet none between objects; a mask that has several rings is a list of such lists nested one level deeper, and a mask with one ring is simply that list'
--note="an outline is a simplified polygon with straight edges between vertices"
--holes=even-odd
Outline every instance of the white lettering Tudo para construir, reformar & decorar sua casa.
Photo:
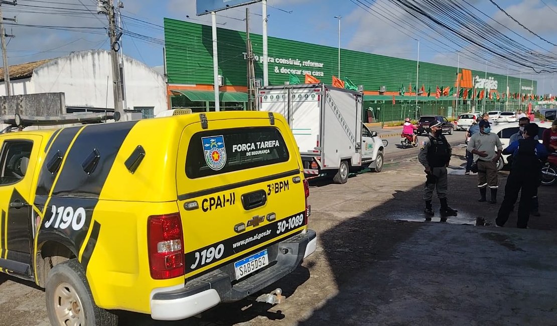
[{"label": "white lettering Tudo para construir, reformar & decorar sua casa", "polygon": [[[244,60],[247,60],[247,53],[242,52]],[[253,55],[253,60],[263,63],[263,56]],[[300,60],[298,58],[280,58],[269,55],[267,57],[268,63],[275,65],[273,71],[282,75],[297,75],[305,76],[311,75],[315,77],[324,77],[323,62],[314,62],[311,60]],[[271,67],[271,66],[270,66]]]}]

